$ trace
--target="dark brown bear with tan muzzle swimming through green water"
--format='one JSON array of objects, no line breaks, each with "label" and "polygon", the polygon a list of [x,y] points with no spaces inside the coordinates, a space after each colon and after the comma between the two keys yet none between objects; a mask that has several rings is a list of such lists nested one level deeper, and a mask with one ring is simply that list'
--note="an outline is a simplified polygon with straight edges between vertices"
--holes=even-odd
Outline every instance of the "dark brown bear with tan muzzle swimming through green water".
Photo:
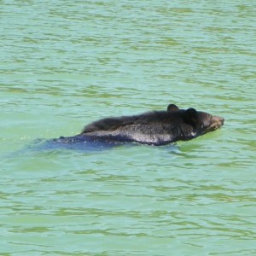
[{"label": "dark brown bear with tan muzzle swimming through green water", "polygon": [[166,145],[186,141],[215,131],[224,125],[224,118],[196,111],[179,109],[170,104],[166,111],[99,119],[73,137],[60,137],[54,143],[143,143]]}]

